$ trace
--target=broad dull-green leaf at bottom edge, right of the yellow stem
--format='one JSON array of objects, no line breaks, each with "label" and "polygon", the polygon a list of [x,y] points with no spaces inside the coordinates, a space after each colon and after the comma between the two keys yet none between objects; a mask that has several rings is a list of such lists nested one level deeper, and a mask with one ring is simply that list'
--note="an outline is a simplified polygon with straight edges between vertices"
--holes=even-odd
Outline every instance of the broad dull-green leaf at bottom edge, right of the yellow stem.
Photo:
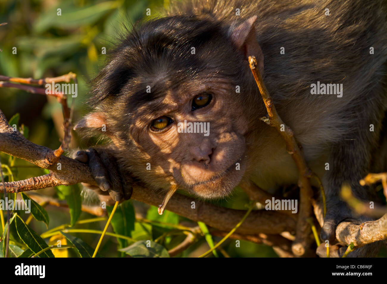
[{"label": "broad dull-green leaf at bottom edge, right of the yellow stem", "polygon": [[120,249],[120,252],[125,252],[131,257],[170,257],[162,245],[151,240],[136,241],[129,247]]}]

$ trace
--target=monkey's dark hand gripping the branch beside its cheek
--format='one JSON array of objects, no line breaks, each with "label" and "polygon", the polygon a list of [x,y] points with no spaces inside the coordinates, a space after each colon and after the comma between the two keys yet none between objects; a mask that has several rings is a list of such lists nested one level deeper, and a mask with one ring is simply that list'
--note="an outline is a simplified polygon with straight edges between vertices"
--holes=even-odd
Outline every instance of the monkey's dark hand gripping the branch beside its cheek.
[{"label": "monkey's dark hand gripping the branch beside its cheek", "polygon": [[101,202],[113,205],[115,201],[130,199],[132,184],[131,182],[122,181],[116,158],[111,153],[104,151],[104,149],[96,151],[89,148],[86,151],[77,151],[74,153],[73,158],[89,166],[98,186],[84,183],[82,185],[96,192]]}]

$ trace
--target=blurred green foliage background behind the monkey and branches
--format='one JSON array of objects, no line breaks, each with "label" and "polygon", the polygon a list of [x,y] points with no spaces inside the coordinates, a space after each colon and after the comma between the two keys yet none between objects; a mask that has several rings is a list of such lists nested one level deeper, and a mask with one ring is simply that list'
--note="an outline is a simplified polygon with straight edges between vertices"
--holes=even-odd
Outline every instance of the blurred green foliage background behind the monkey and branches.
[{"label": "blurred green foliage background behind the monkey and branches", "polygon": [[[88,97],[88,82],[104,66],[105,54],[101,54],[103,47],[108,54],[119,40],[118,35],[124,31],[124,24],[146,20],[146,9],[150,8],[152,17],[162,16],[163,7],[170,5],[163,0],[116,0],[116,1],[56,1],[56,0],[0,0],[0,75],[23,78],[45,78],[74,72],[78,78],[78,97],[75,101],[74,120],[77,121],[87,111],[84,102]],[[61,9],[60,16],[57,9]],[[128,25],[127,25],[128,26]],[[12,54],[13,48],[17,53]],[[71,98],[70,102],[71,102]],[[19,128],[28,128],[28,139],[32,142],[56,149],[60,145],[62,136],[62,108],[55,99],[44,95],[30,94],[12,88],[0,88],[0,109],[7,119],[19,113]],[[76,134],[73,134],[76,137]],[[72,148],[84,146],[85,142],[75,139]],[[8,155],[0,153],[3,164],[8,164],[15,180],[26,179],[42,175],[45,172],[19,159],[11,160]],[[10,175],[5,176],[10,181]],[[70,189],[74,194],[80,192],[80,186]],[[44,189],[39,192],[55,198],[64,198],[58,189]],[[84,199],[82,202],[92,205],[92,201]],[[236,193],[226,200],[215,202],[221,206],[246,209],[247,196],[236,190]],[[135,209],[147,212],[147,217],[158,218],[154,215],[155,208],[134,202]],[[50,216],[49,229],[60,224],[70,223],[67,209],[46,207]],[[136,213],[138,213],[136,211]],[[165,213],[164,213],[165,214]],[[87,213],[80,213],[79,219],[92,218]],[[27,218],[27,216],[26,216]],[[178,223],[183,218],[169,214],[164,221]],[[179,219],[180,218],[180,219]],[[82,228],[102,230],[106,221],[88,223]],[[46,230],[43,223],[32,220],[31,227],[38,233]],[[156,239],[170,229],[149,226],[145,230],[144,224],[136,223],[133,235],[137,239]],[[78,228],[75,225],[75,228]],[[144,233],[145,232],[145,233]],[[138,236],[141,235],[142,236]],[[75,234],[95,247],[99,235]],[[15,236],[17,238],[17,236]],[[168,237],[163,241],[167,248],[174,247],[184,236]],[[219,241],[221,238],[214,238]],[[241,241],[240,248],[235,247],[235,240],[228,240],[223,246],[224,251],[231,257],[276,257],[271,247]],[[117,253],[117,240],[105,236],[99,252],[104,256],[122,256]],[[208,249],[207,242],[202,237],[195,245],[179,256],[197,256]],[[70,250],[69,250],[70,251]],[[75,256],[70,253],[70,256]],[[222,254],[220,254],[222,256]]]}]

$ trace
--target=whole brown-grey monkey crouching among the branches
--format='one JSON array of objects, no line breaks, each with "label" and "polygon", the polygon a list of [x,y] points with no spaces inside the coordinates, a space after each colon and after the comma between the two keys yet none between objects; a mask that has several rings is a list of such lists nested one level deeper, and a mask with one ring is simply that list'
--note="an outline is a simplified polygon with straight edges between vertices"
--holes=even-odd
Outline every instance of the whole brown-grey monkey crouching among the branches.
[{"label": "whole brown-grey monkey crouching among the branches", "polygon": [[226,197],[243,180],[272,193],[297,184],[279,133],[259,119],[267,111],[247,61],[255,56],[279,116],[322,180],[320,238],[334,241],[341,221],[368,220],[340,199],[341,186],[368,201],[372,192],[359,180],[371,168],[385,171],[378,145],[387,107],[386,15],[378,0],[172,3],[164,17],[134,24],[91,82],[92,111],[75,129],[111,143],[75,158],[89,164],[105,201],[130,197],[132,182],[176,185],[203,199]]}]

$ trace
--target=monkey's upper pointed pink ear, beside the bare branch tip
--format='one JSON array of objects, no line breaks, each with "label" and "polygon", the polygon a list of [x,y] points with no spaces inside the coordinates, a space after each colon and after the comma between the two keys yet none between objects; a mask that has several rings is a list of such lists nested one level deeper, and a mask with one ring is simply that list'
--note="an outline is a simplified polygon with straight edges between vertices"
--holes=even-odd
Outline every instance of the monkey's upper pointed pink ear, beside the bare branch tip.
[{"label": "monkey's upper pointed pink ear, beside the bare branch tip", "polygon": [[248,56],[255,56],[258,61],[258,69],[263,76],[264,71],[264,54],[260,48],[257,36],[255,34],[254,23],[257,20],[257,16],[250,17],[242,24],[235,27],[231,31],[231,41],[234,46],[241,51],[245,59],[248,60]]}]

